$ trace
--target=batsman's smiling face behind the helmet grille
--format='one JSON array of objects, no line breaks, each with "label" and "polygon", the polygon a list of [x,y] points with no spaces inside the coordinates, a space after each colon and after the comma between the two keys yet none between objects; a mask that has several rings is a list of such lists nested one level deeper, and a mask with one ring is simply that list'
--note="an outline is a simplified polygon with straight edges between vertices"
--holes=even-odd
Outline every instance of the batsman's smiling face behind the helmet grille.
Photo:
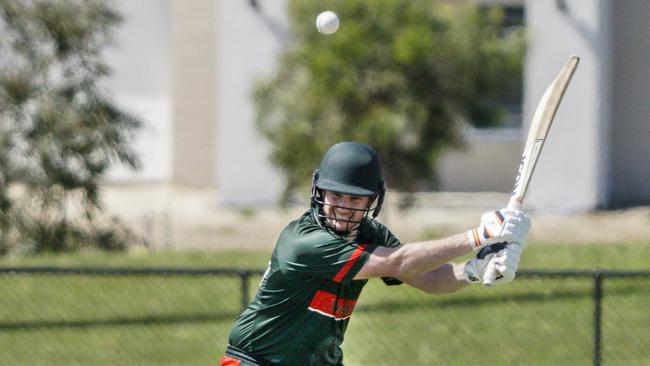
[{"label": "batsman's smiling face behind the helmet grille", "polygon": [[323,193],[323,211],[327,217],[327,225],[335,231],[344,232],[356,228],[370,205],[370,197],[331,191]]}]

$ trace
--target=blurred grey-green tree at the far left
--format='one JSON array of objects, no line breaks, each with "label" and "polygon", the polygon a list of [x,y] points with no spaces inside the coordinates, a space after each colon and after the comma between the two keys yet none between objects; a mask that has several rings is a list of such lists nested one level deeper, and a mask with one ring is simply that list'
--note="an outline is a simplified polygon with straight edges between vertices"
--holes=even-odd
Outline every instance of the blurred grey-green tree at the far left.
[{"label": "blurred grey-green tree at the far left", "polygon": [[140,122],[99,84],[120,22],[101,0],[0,0],[0,254],[123,245],[96,217],[106,170],[138,164]]}]

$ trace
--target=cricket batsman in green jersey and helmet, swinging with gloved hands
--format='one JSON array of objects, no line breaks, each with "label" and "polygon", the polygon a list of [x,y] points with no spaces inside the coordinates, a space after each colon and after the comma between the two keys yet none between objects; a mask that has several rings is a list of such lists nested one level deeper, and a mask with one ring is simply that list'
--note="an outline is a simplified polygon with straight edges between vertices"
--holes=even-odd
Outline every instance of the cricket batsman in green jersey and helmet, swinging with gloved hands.
[{"label": "cricket batsman in green jersey and helmet, swinging with gloved hands", "polygon": [[[478,227],[402,244],[375,218],[385,195],[380,161],[367,145],[332,146],[314,172],[311,208],[280,234],[253,302],[230,332],[221,366],[343,365],[341,344],[361,290],[373,277],[427,293],[512,281],[530,219],[501,209]],[[474,252],[472,259],[453,263]]]}]

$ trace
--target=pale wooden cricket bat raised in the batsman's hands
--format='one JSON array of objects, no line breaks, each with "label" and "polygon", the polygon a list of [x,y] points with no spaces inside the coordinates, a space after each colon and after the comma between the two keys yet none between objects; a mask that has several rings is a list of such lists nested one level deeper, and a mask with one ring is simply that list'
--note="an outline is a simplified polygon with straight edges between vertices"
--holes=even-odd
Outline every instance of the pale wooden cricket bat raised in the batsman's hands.
[{"label": "pale wooden cricket bat raised in the batsman's hands", "polygon": [[[535,165],[537,165],[542,147],[544,147],[548,131],[551,129],[553,118],[555,118],[560,102],[562,102],[562,97],[571,82],[579,61],[580,58],[575,55],[569,58],[569,61],[560,70],[555,80],[546,88],[542,99],[537,104],[537,109],[535,109],[535,114],[533,115],[530,129],[528,130],[528,137],[526,138],[526,145],[521,156],[517,177],[515,178],[515,187],[508,202],[508,209],[519,210],[524,203],[528,183],[530,183],[530,178],[535,171]],[[497,271],[494,266],[488,265],[483,284],[485,286],[492,285],[496,275]]]}]

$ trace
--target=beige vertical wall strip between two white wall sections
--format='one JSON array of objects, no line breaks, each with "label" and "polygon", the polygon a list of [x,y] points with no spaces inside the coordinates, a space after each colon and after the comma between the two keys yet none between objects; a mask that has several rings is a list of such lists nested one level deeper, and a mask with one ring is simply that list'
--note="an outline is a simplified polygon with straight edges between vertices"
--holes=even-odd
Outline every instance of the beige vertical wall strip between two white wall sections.
[{"label": "beige vertical wall strip between two white wall sections", "polygon": [[175,183],[215,184],[217,92],[215,1],[172,0]]}]

